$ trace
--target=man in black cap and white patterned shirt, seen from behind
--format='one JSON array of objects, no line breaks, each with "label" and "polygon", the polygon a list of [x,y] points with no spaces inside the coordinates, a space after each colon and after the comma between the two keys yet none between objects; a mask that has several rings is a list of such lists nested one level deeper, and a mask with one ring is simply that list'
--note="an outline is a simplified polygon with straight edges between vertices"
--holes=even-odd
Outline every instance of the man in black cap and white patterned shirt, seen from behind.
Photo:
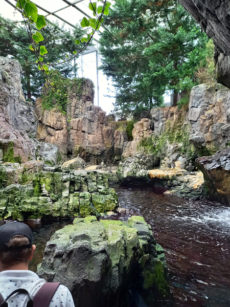
[{"label": "man in black cap and white patterned shirt, seen from behind", "polygon": [[11,222],[0,227],[0,305],[4,299],[9,307],[26,307],[29,299],[26,291],[12,294],[25,289],[30,300],[34,300],[34,306],[39,302],[40,307],[74,307],[72,295],[66,287],[57,284],[55,288],[54,283],[42,287],[45,280],[28,270],[35,249],[32,231],[26,224]]}]

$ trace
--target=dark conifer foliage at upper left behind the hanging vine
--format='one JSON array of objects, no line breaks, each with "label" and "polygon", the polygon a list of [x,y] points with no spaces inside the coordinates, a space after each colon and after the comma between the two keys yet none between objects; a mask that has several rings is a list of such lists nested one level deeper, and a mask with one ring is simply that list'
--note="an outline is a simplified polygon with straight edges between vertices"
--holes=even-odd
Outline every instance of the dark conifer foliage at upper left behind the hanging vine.
[{"label": "dark conifer foliage at upper left behind the hanging vine", "polygon": [[[32,25],[32,27],[34,26]],[[59,27],[58,23],[53,24],[47,21],[47,26],[40,32],[35,31],[35,33],[36,35],[41,33],[44,38],[42,45],[48,51],[52,51],[40,57],[40,61],[45,60],[50,63],[62,61],[66,55],[70,56],[73,51],[79,51],[82,48],[82,44],[77,46],[75,43],[75,37],[84,34],[80,26],[76,26],[76,29],[71,33],[66,31],[64,26]],[[22,91],[26,99],[34,101],[36,97],[41,95],[44,77],[35,65],[29,63],[36,61],[34,53],[27,48],[29,44],[30,40],[25,27],[0,15],[0,56],[11,56],[20,62]],[[77,72],[77,65],[67,62],[56,65],[55,69],[60,71],[64,77],[72,78]]]}]

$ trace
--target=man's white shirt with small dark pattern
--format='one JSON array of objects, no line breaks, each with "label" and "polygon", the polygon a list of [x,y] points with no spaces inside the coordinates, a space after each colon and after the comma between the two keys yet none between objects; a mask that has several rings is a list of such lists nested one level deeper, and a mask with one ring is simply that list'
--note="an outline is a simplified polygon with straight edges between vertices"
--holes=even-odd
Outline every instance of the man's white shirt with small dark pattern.
[{"label": "man's white shirt with small dark pattern", "polygon": [[[33,298],[45,280],[32,271],[3,271],[0,273],[0,293],[6,299],[16,289],[26,289]],[[9,307],[26,307],[28,296],[15,293],[8,300]],[[74,307],[70,291],[60,284],[49,307]]]}]

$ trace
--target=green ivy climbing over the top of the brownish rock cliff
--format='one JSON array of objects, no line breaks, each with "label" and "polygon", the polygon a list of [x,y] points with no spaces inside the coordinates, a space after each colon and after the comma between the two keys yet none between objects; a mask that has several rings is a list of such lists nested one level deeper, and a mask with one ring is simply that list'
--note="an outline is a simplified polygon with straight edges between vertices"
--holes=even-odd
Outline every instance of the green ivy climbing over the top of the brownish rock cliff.
[{"label": "green ivy climbing over the top of the brownish rock cliff", "polygon": [[[47,110],[55,107],[59,112],[66,115],[68,90],[74,87],[76,89],[76,97],[80,98],[84,81],[84,78],[67,79],[60,72],[52,70],[50,72],[50,82],[52,82],[53,86],[45,84],[44,94],[42,95],[42,107]],[[68,122],[70,120],[71,118],[69,117]]]}]

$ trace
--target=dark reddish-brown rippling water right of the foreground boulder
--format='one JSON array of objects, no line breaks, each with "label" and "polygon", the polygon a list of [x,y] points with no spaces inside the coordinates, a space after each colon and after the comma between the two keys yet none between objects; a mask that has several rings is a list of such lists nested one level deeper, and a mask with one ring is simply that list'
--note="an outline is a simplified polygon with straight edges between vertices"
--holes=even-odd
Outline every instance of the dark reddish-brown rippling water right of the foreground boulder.
[{"label": "dark reddish-brown rippling water right of the foreground boulder", "polygon": [[230,208],[143,186],[114,186],[120,206],[151,224],[177,306],[230,306]]}]

